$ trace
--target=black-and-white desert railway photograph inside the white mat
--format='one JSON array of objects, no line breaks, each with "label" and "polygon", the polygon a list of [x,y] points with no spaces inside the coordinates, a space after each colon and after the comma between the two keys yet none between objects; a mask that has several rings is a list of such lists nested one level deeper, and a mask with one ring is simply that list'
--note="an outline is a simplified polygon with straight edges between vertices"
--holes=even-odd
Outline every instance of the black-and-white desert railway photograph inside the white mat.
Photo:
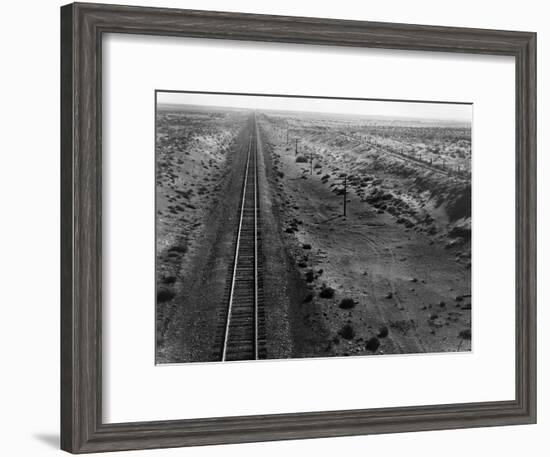
[{"label": "black-and-white desert railway photograph inside the white mat", "polygon": [[157,364],[471,350],[471,103],[155,102]]}]

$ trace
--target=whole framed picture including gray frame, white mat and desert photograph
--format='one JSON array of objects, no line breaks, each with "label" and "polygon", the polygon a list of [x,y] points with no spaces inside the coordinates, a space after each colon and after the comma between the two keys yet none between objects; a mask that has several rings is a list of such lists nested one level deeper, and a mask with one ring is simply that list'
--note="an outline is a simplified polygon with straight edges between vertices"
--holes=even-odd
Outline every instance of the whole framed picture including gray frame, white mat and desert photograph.
[{"label": "whole framed picture including gray frame, white mat and desert photograph", "polygon": [[61,446],[536,421],[536,35],[61,8]]}]

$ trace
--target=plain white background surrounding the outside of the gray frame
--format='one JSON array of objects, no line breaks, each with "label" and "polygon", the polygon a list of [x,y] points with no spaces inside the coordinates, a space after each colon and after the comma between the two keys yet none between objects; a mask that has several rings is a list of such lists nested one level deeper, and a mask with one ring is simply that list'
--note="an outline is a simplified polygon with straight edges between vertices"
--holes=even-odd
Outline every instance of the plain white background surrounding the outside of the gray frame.
[{"label": "plain white background surrounding the outside of the gray frame", "polygon": [[[544,156],[550,106],[550,17],[544,2],[524,0],[132,0],[136,5],[231,10],[538,32],[539,114],[539,424],[134,452],[127,455],[464,456],[528,454],[550,448],[549,210]],[[0,72],[0,453],[59,455],[59,1],[10,2],[2,8]],[[543,265],[544,263],[544,265]],[[546,267],[546,268],[545,268]],[[546,357],[546,360],[544,360]]]}]

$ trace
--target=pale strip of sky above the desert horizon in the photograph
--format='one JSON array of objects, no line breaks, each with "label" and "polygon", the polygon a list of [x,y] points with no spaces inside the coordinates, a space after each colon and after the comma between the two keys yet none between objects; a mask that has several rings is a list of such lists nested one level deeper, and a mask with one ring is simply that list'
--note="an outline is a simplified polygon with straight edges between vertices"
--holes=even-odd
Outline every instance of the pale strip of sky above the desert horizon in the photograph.
[{"label": "pale strip of sky above the desert horizon in the photograph", "polygon": [[471,103],[397,102],[157,92],[157,103],[472,122]]}]

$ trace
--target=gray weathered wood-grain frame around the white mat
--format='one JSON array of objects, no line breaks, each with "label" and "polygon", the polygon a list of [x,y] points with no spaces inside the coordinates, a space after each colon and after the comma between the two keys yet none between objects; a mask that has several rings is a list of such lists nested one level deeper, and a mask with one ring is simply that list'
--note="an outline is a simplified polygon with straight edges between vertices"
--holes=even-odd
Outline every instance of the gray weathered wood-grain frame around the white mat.
[{"label": "gray weathered wood-grain frame around the white mat", "polygon": [[[107,32],[514,56],[515,400],[102,423],[101,42]],[[536,34],[82,3],[61,8],[62,449],[152,449],[535,421]]]}]

